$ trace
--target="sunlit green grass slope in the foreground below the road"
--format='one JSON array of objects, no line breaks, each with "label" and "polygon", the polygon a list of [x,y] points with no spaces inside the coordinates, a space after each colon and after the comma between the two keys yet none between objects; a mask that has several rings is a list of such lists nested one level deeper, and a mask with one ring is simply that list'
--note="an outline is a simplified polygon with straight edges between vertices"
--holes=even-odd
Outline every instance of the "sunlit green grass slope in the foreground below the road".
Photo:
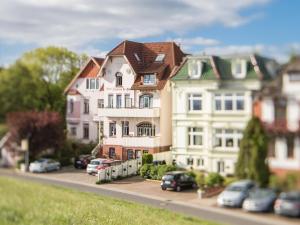
[{"label": "sunlit green grass slope in the foreground below the road", "polygon": [[3,177],[0,224],[217,225],[142,204]]}]

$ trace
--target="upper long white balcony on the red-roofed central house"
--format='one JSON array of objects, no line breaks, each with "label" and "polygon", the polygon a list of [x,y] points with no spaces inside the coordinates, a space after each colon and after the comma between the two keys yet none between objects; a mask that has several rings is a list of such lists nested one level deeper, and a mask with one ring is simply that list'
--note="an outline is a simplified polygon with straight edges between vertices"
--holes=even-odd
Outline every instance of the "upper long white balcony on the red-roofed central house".
[{"label": "upper long white balcony on the red-roofed central house", "polygon": [[98,116],[104,117],[160,117],[160,108],[100,108]]}]

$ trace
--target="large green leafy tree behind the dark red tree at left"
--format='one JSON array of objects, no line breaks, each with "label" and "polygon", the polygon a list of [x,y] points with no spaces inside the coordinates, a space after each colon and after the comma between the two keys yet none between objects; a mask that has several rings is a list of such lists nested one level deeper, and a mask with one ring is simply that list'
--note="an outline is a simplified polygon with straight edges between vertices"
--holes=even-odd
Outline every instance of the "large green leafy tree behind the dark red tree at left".
[{"label": "large green leafy tree behind the dark red tree at left", "polygon": [[63,91],[86,60],[65,48],[38,48],[0,71],[0,120],[14,111],[65,114]]}]

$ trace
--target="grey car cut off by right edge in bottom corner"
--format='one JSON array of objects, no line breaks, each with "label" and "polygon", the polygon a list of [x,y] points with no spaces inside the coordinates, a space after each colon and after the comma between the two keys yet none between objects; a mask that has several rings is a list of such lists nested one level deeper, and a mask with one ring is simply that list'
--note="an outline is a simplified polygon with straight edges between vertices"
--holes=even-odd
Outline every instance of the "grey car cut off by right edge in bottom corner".
[{"label": "grey car cut off by right edge in bottom corner", "polygon": [[275,202],[278,215],[300,217],[300,191],[282,192]]}]

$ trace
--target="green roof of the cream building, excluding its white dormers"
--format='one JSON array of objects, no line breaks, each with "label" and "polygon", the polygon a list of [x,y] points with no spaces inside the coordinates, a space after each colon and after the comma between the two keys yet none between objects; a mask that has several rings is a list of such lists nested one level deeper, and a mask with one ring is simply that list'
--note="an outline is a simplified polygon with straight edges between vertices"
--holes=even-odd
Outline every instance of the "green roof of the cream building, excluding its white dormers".
[{"label": "green roof of the cream building, excluding its white dormers", "polygon": [[[256,54],[252,55],[233,55],[233,56],[188,56],[184,64],[180,66],[172,80],[189,80],[188,62],[192,59],[200,59],[202,61],[202,74],[200,80],[236,80],[232,74],[231,63],[235,59],[243,59],[246,61],[246,79],[268,80],[274,74],[268,68],[268,64],[277,63]],[[194,80],[194,79],[193,79]]]}]

